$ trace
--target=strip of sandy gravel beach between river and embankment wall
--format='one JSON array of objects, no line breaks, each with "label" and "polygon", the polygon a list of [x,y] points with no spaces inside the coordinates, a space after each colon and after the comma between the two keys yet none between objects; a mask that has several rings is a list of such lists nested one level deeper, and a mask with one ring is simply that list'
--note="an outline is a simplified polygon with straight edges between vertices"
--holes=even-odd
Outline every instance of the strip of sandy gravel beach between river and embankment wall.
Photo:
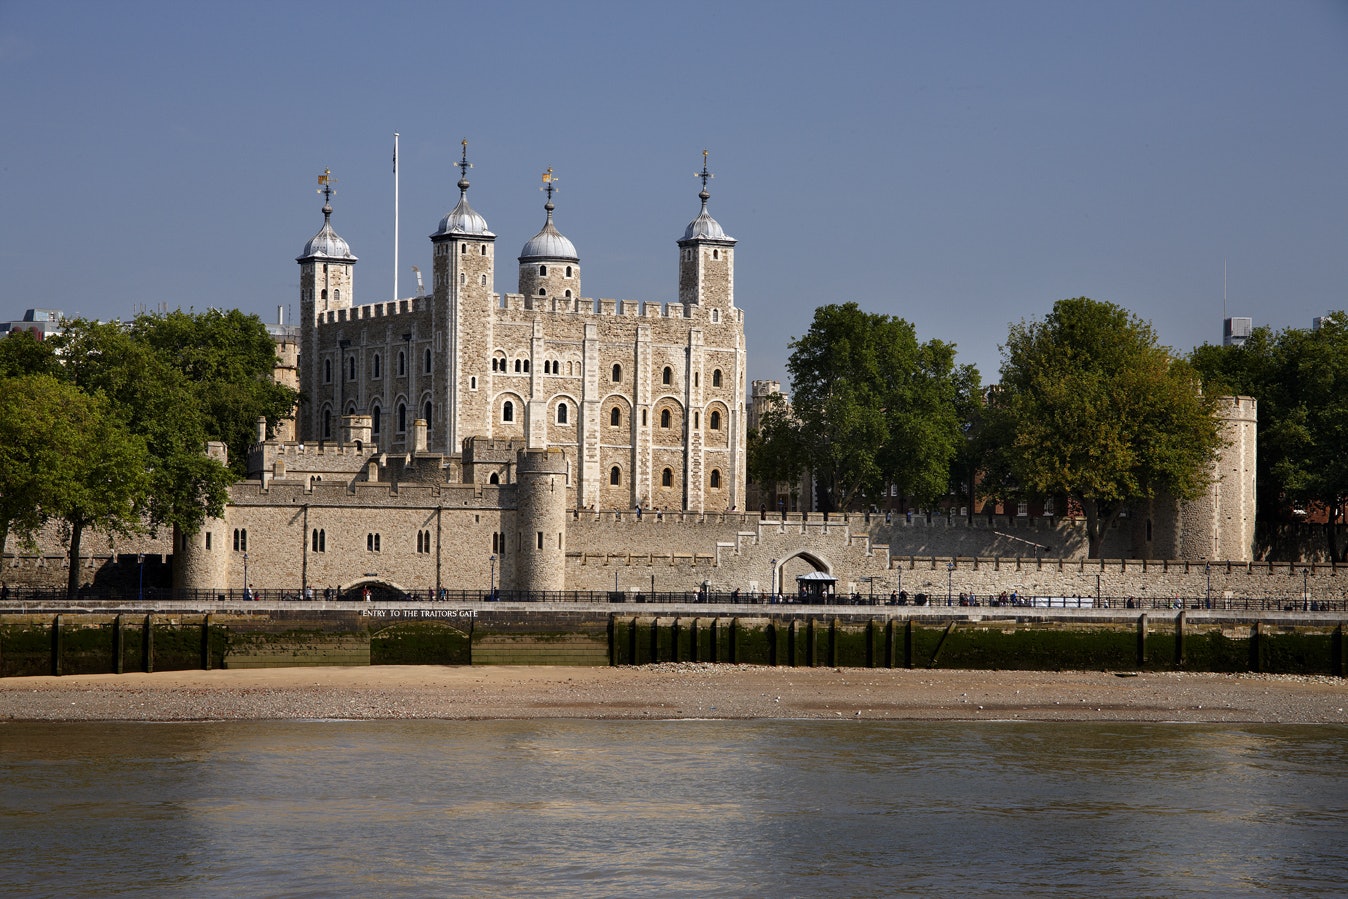
[{"label": "strip of sandy gravel beach between river and embankment wall", "polygon": [[1100,671],[297,667],[0,679],[0,721],[875,718],[1348,724],[1332,677]]}]

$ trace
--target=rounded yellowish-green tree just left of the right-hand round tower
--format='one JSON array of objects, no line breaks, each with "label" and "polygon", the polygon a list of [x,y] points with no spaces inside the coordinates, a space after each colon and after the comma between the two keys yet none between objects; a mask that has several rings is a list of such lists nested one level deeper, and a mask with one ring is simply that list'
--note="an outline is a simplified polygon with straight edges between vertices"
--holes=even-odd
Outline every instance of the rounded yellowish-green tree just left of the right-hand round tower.
[{"label": "rounded yellowish-green tree just left of the right-hand round tower", "polygon": [[1068,495],[1086,516],[1091,558],[1120,512],[1166,492],[1201,495],[1220,446],[1215,402],[1151,326],[1078,297],[1012,325],[989,429],[1010,495]]}]

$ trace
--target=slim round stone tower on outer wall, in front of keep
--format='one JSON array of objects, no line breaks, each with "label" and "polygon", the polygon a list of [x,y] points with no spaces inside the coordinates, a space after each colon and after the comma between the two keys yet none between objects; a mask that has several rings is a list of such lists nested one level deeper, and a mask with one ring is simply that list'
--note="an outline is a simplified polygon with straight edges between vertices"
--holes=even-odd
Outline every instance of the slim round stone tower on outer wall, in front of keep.
[{"label": "slim round stone tower on outer wall, in front of keep", "polygon": [[520,450],[516,466],[515,589],[566,589],[566,456],[562,450]]}]

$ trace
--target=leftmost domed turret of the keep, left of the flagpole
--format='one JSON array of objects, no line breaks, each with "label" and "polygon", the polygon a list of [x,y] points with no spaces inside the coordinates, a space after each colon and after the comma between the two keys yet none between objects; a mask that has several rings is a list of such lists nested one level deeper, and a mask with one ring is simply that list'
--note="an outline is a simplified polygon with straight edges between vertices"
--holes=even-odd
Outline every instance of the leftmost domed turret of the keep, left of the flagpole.
[{"label": "leftmost domed turret of the keep, left of the flagpole", "polygon": [[334,363],[332,359],[321,360],[315,323],[328,313],[350,309],[355,294],[356,257],[332,225],[333,183],[336,179],[330,168],[318,175],[318,193],[324,195],[324,226],[295,257],[299,263],[299,314],[303,334],[299,350],[303,360],[301,392],[310,398],[307,411],[299,412],[301,439],[332,437],[333,410],[330,404],[317,400],[324,396],[324,384],[330,385],[333,381]]}]

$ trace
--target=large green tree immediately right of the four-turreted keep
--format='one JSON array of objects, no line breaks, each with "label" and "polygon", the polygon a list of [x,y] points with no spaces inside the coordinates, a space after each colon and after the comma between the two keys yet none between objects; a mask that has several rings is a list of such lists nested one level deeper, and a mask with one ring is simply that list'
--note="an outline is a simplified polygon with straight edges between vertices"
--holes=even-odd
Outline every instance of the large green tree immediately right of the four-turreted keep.
[{"label": "large green tree immediately right of the four-turreted keep", "polygon": [[790,481],[807,469],[822,511],[878,499],[890,484],[919,501],[949,489],[964,441],[958,392],[977,383],[953,345],[919,344],[909,322],[856,303],[821,306],[791,342],[787,371],[791,407],[764,415],[760,470]]}]

